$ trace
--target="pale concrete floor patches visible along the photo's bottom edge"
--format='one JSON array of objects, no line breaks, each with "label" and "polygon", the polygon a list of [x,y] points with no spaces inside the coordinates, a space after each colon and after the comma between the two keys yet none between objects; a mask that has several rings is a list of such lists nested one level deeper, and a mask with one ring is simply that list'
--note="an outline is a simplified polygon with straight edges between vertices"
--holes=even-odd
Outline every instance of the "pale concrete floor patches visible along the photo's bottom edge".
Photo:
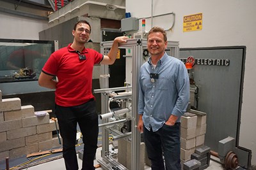
[{"label": "pale concrete floor patches visible along the photo's bottom edge", "polygon": [[[96,159],[100,159],[100,150],[101,148],[98,148],[97,150],[97,155],[96,155]],[[81,168],[82,165],[82,161],[81,159],[78,158],[78,154],[77,154],[77,159],[78,159],[78,163],[79,163],[79,168]],[[214,158],[214,160],[218,160],[216,158]],[[97,162],[97,160],[95,160],[95,165],[99,164]],[[56,160],[52,160],[50,162],[45,162],[44,164],[39,164],[37,166],[33,166],[33,167],[28,167],[27,169],[29,170],[41,170],[41,169],[47,169],[47,170],[63,170],[65,169],[65,163],[64,163],[64,159],[56,159]],[[221,164],[219,164],[216,161],[211,160],[210,161],[210,166],[207,167],[207,170],[222,170],[223,167],[221,166]],[[97,170],[102,170],[101,167],[98,167]],[[145,166],[145,170],[150,170],[150,167]]]}]

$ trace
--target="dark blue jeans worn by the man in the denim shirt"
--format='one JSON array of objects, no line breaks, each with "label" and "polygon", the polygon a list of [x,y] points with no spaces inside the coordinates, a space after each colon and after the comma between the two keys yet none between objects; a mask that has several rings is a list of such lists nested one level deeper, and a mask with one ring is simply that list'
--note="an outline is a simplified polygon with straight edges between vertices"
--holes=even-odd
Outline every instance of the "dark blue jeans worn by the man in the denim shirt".
[{"label": "dark blue jeans worn by the man in the denim shirt", "polygon": [[[180,123],[164,124],[153,132],[143,127],[144,141],[152,170],[179,170],[180,166]],[[163,159],[164,157],[164,159]]]}]

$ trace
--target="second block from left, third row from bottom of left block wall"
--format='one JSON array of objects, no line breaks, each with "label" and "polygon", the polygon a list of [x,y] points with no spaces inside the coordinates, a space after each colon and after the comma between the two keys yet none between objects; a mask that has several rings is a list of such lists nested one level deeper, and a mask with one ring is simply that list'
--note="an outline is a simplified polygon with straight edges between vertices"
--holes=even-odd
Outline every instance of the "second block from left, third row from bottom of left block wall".
[{"label": "second block from left, third row from bottom of left block wall", "polygon": [[33,134],[36,134],[36,127],[23,127],[20,129],[15,129],[12,131],[7,131],[7,139],[17,139],[17,138],[22,138],[26,136],[31,136]]}]

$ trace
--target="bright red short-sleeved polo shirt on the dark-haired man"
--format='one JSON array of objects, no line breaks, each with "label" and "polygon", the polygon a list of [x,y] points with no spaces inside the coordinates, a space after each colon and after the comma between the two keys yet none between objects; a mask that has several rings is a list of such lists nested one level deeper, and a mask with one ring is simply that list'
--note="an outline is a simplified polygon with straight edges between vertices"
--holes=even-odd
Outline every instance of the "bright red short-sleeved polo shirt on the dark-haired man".
[{"label": "bright red short-sleeved polo shirt on the dark-haired man", "polygon": [[58,78],[55,102],[60,106],[77,106],[95,98],[92,94],[93,66],[103,59],[99,52],[84,48],[81,55],[86,55],[86,60],[80,60],[70,45],[52,53],[42,69]]}]

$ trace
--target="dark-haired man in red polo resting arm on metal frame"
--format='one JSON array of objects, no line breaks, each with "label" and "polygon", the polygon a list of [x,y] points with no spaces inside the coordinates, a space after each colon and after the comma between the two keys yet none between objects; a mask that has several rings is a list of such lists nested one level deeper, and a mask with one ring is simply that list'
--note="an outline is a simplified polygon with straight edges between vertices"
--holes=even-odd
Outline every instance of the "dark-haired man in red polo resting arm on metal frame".
[{"label": "dark-haired man in red polo resting arm on metal frame", "polygon": [[[94,64],[113,64],[118,52],[118,44],[125,43],[127,37],[114,39],[108,55],[102,55],[90,48],[84,48],[89,39],[90,24],[81,20],[74,25],[73,43],[51,54],[38,83],[42,87],[56,89],[55,113],[63,139],[63,158],[68,170],[77,170],[76,132],[77,123],[83,134],[83,170],[95,169],[93,160],[97,150],[99,133],[95,97],[92,94],[92,71]],[[53,80],[57,76],[58,81]]]}]

